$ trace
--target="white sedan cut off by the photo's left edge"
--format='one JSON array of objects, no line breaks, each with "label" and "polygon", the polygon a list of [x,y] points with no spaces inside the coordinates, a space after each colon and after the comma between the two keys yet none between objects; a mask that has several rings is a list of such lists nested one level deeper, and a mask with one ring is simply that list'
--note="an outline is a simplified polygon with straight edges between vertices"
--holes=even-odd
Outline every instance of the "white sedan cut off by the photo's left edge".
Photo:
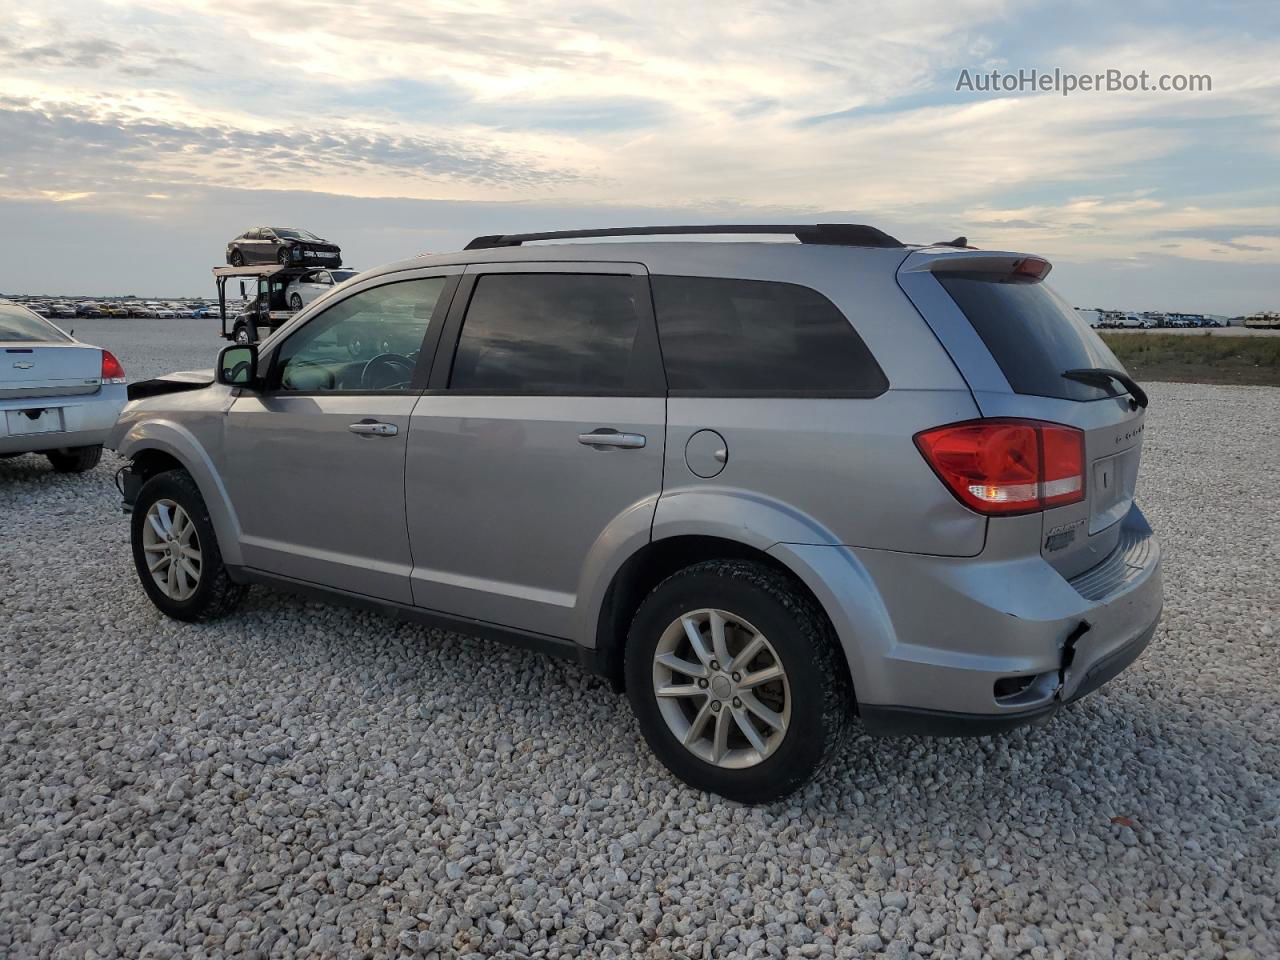
[{"label": "white sedan cut off by the photo's left edge", "polygon": [[59,472],[91,470],[127,399],[109,351],[0,302],[0,457],[44,453]]}]

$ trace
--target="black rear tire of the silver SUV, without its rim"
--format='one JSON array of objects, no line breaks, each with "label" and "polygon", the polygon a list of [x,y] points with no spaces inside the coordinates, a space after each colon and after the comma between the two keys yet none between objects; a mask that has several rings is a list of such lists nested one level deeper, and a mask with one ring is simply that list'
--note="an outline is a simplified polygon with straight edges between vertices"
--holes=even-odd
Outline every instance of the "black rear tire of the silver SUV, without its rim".
[{"label": "black rear tire of the silver SUV, without its rim", "polygon": [[[682,614],[732,612],[768,637],[790,686],[791,717],[781,744],[740,769],[686,749],[658,707],[653,658]],[[778,800],[809,782],[838,753],[852,726],[854,695],[844,653],[823,612],[785,573],[750,561],[708,561],[673,573],[640,604],[627,637],[627,696],[649,748],[692,787],[745,804]]]}]

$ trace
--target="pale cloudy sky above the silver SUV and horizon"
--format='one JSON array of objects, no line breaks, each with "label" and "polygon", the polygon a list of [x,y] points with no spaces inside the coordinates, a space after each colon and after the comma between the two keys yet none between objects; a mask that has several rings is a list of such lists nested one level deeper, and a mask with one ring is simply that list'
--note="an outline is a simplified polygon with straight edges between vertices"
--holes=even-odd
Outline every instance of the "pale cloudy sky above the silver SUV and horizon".
[{"label": "pale cloudy sky above the silver SUV and horizon", "polygon": [[[266,224],[369,268],[851,220],[1044,255],[1079,306],[1280,308],[1274,0],[0,4],[8,293],[210,294]],[[1055,68],[1211,90],[957,90]]]}]

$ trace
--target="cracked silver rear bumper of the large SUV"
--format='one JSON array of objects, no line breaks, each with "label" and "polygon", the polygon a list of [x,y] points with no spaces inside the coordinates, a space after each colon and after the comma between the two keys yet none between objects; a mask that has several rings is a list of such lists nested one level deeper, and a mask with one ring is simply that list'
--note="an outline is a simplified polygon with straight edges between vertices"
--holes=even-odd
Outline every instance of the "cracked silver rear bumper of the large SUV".
[{"label": "cracked silver rear bumper of the large SUV", "polygon": [[1028,556],[1041,522],[992,524],[978,557],[790,548],[831,614],[868,732],[1009,730],[1096,690],[1142,654],[1164,584],[1138,507],[1120,521],[1116,552],[1070,581]]}]

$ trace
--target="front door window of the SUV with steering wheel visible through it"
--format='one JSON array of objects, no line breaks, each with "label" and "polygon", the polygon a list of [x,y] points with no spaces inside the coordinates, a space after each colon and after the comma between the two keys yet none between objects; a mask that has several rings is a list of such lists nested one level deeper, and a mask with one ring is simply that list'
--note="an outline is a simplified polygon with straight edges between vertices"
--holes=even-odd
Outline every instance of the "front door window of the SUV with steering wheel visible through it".
[{"label": "front door window of the SUV with steering wheel visible through it", "polygon": [[347,297],[280,344],[273,379],[285,393],[407,392],[443,276],[401,280]]}]

